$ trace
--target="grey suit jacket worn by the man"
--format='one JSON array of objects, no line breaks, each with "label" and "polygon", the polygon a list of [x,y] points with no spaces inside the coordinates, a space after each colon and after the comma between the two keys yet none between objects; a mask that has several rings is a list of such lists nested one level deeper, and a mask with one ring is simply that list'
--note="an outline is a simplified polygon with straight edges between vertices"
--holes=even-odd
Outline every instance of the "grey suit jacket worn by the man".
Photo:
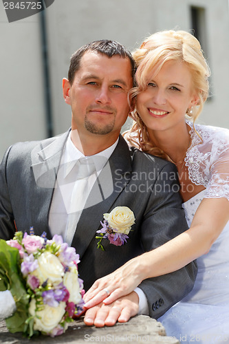
[{"label": "grey suit jacket worn by the man", "polygon": [[[26,231],[33,226],[36,235],[45,231],[50,237],[50,204],[68,133],[41,142],[14,144],[4,155],[0,167],[1,238],[13,237],[14,223],[17,230]],[[129,149],[120,136],[109,166],[113,191],[106,193],[104,169],[98,182],[104,199],[83,210],[72,242],[80,255],[79,273],[85,290],[129,259],[164,244],[188,228],[173,164]],[[91,193],[95,192],[98,189],[92,189]],[[103,252],[97,249],[96,230],[103,214],[116,206],[131,208],[135,224],[123,246],[111,245],[104,239]],[[150,315],[157,319],[188,294],[196,273],[193,262],[171,274],[142,281],[139,287],[146,294]]]}]

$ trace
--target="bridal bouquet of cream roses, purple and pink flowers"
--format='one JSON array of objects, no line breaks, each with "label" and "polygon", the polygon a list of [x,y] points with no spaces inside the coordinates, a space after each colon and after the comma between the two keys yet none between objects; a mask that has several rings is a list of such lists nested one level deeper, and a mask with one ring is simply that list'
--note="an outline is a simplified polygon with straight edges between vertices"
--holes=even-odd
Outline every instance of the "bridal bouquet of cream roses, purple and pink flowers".
[{"label": "bridal bouquet of cream roses, purple and pink flowers", "polygon": [[10,290],[17,310],[6,319],[10,332],[58,336],[83,310],[79,255],[60,235],[47,240],[17,232],[0,240],[0,290]]}]

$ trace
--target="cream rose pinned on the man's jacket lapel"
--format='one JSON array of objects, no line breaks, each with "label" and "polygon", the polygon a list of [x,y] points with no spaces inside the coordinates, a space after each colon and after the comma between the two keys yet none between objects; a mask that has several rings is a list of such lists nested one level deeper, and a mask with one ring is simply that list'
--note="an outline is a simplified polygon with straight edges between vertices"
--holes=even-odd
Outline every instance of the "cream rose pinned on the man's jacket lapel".
[{"label": "cream rose pinned on the man's jacket lapel", "polygon": [[103,214],[103,216],[111,228],[116,229],[118,233],[127,235],[135,223],[133,211],[128,206],[116,206],[111,213]]}]

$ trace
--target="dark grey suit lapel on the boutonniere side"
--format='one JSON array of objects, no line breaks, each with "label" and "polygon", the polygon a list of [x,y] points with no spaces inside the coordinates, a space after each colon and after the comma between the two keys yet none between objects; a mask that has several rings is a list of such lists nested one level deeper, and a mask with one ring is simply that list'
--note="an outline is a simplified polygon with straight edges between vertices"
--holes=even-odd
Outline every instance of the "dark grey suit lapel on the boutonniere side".
[{"label": "dark grey suit lapel on the boutonniere side", "polygon": [[[76,248],[76,252],[83,257],[83,254],[91,240],[95,239],[96,230],[100,228],[100,221],[103,220],[103,214],[108,213],[113,208],[118,196],[129,183],[131,173],[131,155],[127,142],[120,136],[118,145],[113,151],[107,165],[102,169],[98,176],[98,182],[94,184],[93,189],[89,195],[89,201],[80,216],[76,233],[72,241],[72,246]],[[111,173],[111,179],[107,180],[107,176]],[[111,185],[113,183],[113,191]],[[92,200],[102,198],[101,202],[94,202],[90,205]],[[120,204],[124,205],[124,204]],[[95,239],[96,246],[96,239]]]}]

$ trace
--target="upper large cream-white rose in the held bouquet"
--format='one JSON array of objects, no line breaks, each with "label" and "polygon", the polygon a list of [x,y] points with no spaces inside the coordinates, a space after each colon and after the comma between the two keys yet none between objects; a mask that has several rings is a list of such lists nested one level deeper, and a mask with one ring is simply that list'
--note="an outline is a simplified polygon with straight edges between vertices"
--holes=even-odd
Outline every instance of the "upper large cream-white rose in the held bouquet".
[{"label": "upper large cream-white rose in the held bouquet", "polygon": [[39,268],[32,272],[32,275],[36,276],[40,283],[48,279],[50,283],[61,283],[63,276],[65,275],[63,265],[61,261],[51,252],[43,252],[37,259]]}]

